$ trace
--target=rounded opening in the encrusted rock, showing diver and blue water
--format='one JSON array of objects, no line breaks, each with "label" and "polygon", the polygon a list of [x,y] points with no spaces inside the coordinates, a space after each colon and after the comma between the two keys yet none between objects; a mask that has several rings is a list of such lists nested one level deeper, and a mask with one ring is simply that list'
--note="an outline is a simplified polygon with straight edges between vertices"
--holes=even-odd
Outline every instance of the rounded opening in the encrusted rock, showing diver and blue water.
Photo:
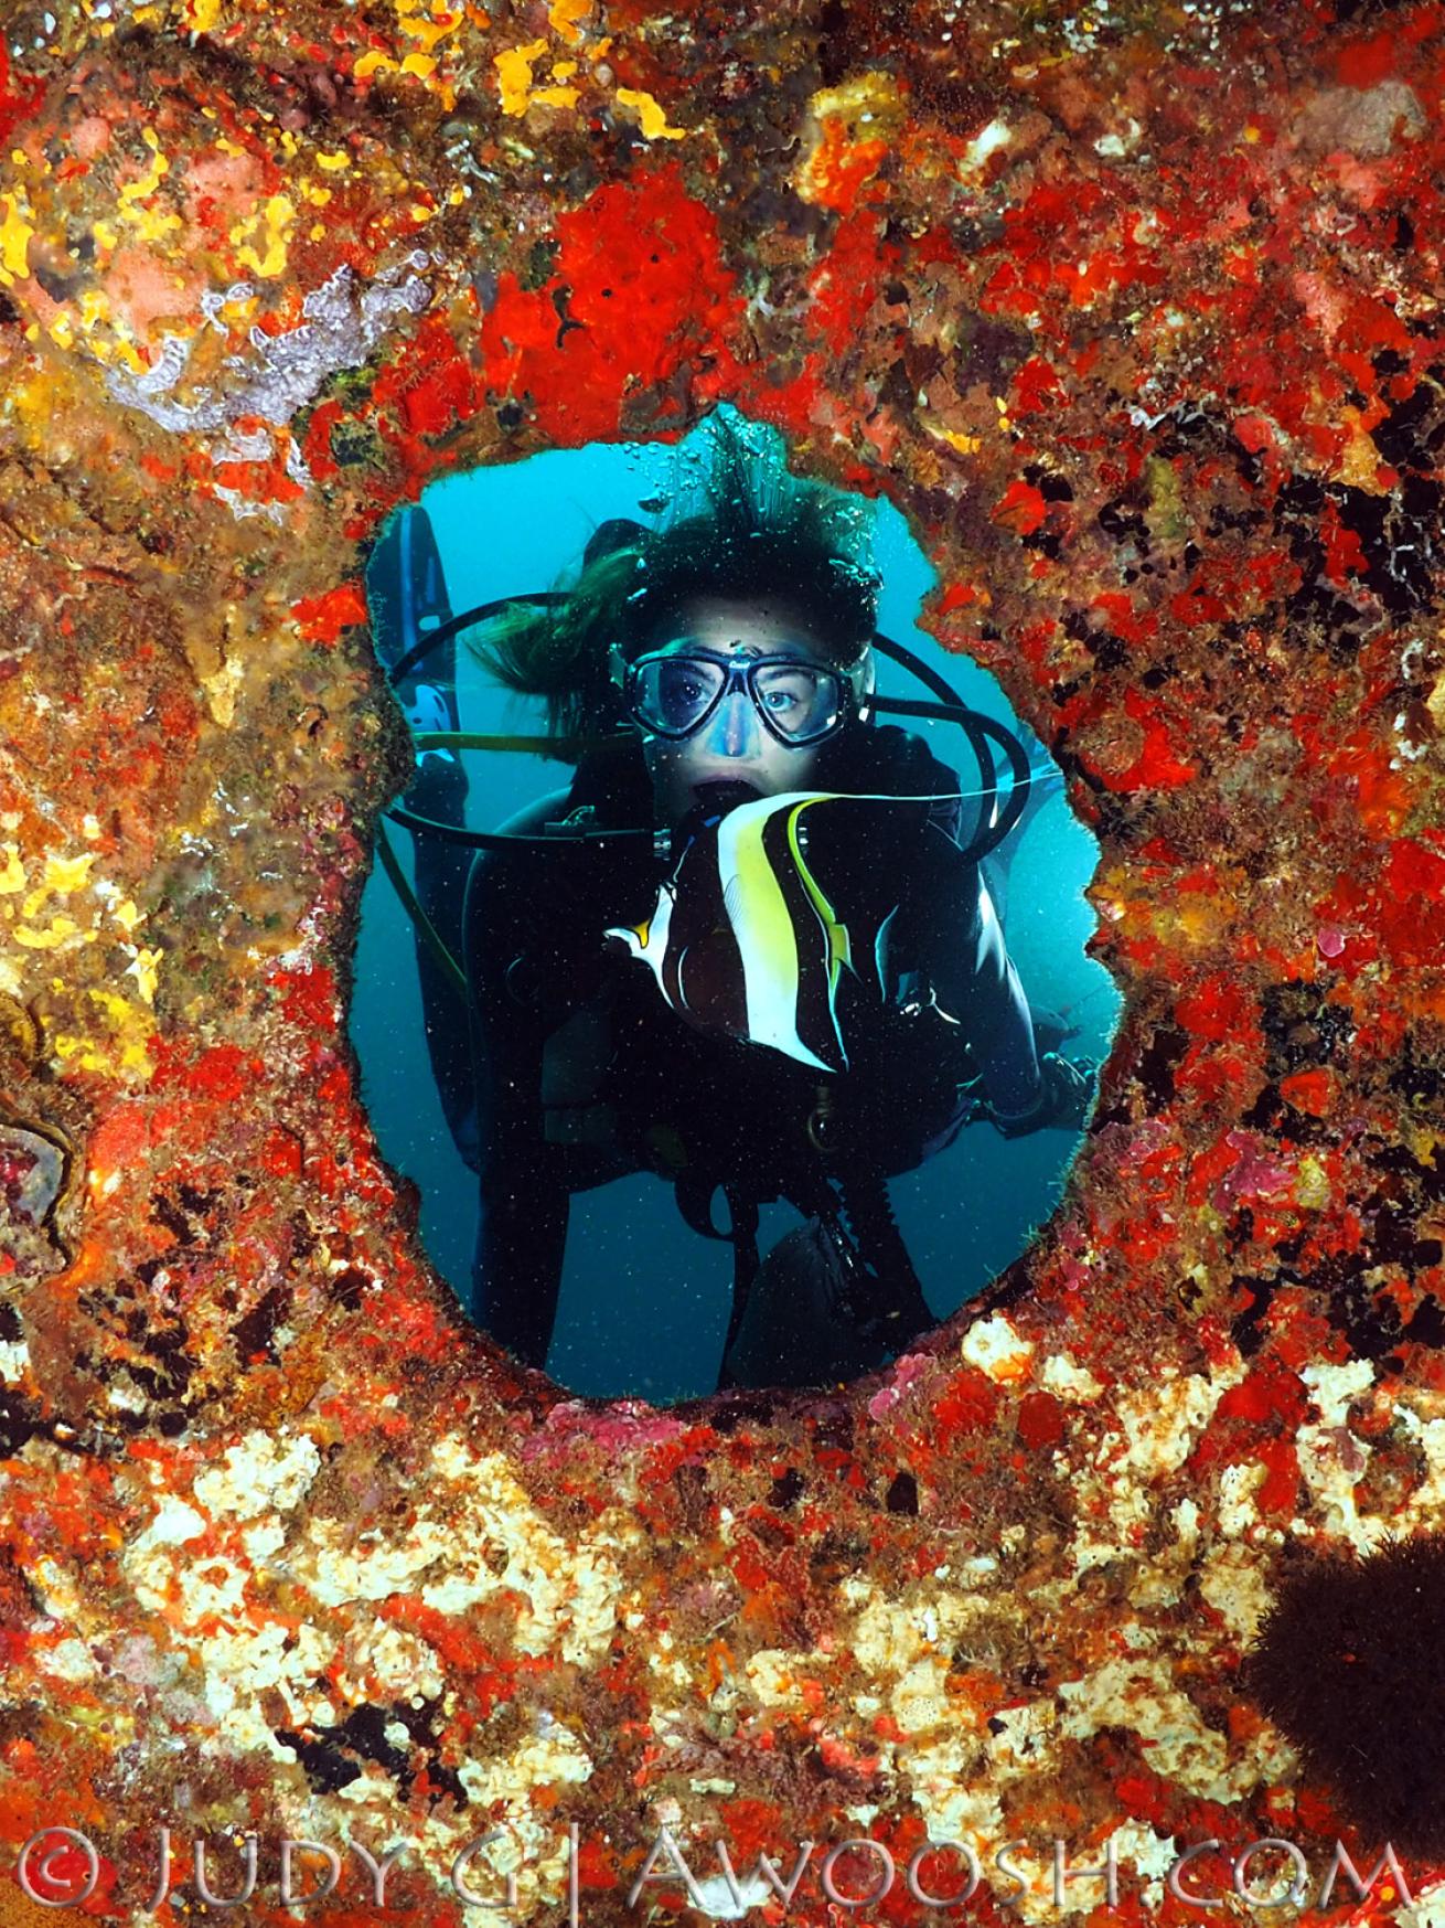
[{"label": "rounded opening in the encrusted rock, showing diver and blue water", "polygon": [[364,1093],[468,1315],[574,1392],[873,1371],[1054,1209],[1098,850],[934,586],[728,409],[451,476],[372,553],[397,808],[511,841],[383,817]]}]

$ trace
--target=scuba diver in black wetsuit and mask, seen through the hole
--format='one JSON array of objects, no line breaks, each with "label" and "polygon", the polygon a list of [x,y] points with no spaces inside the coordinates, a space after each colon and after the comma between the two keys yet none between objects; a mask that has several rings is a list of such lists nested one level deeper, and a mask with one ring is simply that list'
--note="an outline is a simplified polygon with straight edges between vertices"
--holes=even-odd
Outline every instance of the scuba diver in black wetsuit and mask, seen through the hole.
[{"label": "scuba diver in black wetsuit and mask, seen through the hole", "polygon": [[[489,837],[459,829],[455,696],[428,636],[451,650],[460,623],[424,511],[374,559],[378,648],[420,748],[393,816],[416,831],[428,1049],[480,1178],[472,1315],[522,1363],[547,1361],[572,1195],[649,1170],[732,1244],[721,1384],[879,1367],[936,1325],[888,1180],[975,1118],[1010,1138],[1083,1124],[1089,1068],[1035,1024],[981,870],[1027,763],[1019,781],[1013,744],[1000,812],[979,727],[1006,731],[875,696],[867,532],[867,505],[717,418],[665,521],[601,524],[566,590],[476,630],[574,763]],[[969,719],[985,789],[880,710]],[[801,1224],[759,1253],[778,1199]]]}]

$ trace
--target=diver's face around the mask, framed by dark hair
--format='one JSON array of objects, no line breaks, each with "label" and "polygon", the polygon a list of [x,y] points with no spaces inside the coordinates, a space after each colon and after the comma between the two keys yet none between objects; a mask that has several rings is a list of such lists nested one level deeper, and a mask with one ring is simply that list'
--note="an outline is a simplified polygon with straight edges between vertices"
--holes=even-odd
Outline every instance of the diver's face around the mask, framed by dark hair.
[{"label": "diver's face around the mask, framed by dark hair", "polygon": [[[686,640],[669,644],[669,656],[703,650],[724,661],[792,657],[827,665],[819,640],[767,603],[699,596],[688,603],[674,629]],[[644,735],[644,756],[663,823],[680,823],[697,804],[696,790],[705,783],[746,783],[759,796],[805,790],[817,754],[817,742],[778,742],[738,683],[692,736]]]}]

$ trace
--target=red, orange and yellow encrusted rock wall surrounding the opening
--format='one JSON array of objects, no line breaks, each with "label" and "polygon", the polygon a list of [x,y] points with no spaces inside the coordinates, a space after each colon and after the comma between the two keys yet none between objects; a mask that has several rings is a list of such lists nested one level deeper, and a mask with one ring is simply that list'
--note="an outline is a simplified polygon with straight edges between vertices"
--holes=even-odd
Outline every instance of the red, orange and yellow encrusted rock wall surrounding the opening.
[{"label": "red, orange and yellow encrusted rock wall surrounding the opening", "polygon": [[[1098,1905],[1052,1837],[1139,1920],[1208,1837],[1374,1862],[1241,1662],[1445,1515],[1443,91],[1433,4],[12,0],[8,1857],[81,1828],[146,1918],[166,1822],[181,1920],[254,1830],[272,1920],[281,1835],[407,1839],[416,1922],[491,1828],[536,1920],[570,1824],[593,1922],[686,1913],[661,1826],[1038,1843],[983,1918]],[[1062,1211],[886,1380],[588,1407],[358,1103],[362,569],[432,476],[719,401],[911,517],[1127,1010]]]}]

